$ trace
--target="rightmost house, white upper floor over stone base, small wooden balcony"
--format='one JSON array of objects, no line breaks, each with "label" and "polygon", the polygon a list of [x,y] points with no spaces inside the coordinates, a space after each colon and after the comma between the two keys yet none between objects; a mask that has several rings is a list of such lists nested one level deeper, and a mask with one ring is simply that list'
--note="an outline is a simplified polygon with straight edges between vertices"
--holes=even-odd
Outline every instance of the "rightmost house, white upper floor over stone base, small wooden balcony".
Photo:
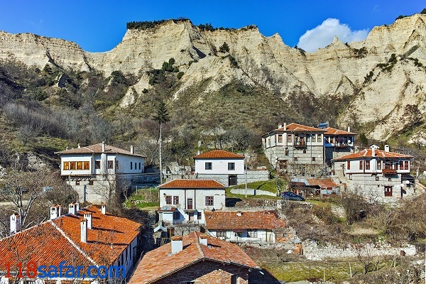
[{"label": "rightmost house, white upper floor over stone base, small wooden balcony", "polygon": [[[410,176],[412,155],[371,148],[332,159],[335,180],[346,183],[347,189],[369,202],[395,203],[415,195]],[[418,192],[417,192],[418,193]]]}]

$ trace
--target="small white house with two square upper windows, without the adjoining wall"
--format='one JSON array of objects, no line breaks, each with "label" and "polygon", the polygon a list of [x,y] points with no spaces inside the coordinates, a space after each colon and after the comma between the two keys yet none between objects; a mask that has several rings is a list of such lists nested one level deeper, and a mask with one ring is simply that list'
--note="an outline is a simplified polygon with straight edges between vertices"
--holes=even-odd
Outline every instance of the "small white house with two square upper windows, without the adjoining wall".
[{"label": "small white house with two square upper windows, without the adjoining wall", "polygon": [[213,150],[195,155],[194,160],[198,178],[211,178],[226,186],[244,182],[244,155]]}]

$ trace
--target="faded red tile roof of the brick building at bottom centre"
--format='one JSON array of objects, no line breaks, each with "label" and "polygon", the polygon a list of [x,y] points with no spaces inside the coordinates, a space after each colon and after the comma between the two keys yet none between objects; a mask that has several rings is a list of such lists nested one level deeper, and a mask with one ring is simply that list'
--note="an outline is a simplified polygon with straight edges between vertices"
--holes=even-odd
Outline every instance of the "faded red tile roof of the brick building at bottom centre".
[{"label": "faded red tile roof of the brick building at bottom centre", "polygon": [[207,246],[200,244],[200,232],[192,232],[182,237],[183,249],[171,254],[172,244],[168,243],[143,256],[129,284],[155,283],[161,278],[173,275],[200,261],[216,261],[247,268],[258,265],[236,244],[207,236]]}]

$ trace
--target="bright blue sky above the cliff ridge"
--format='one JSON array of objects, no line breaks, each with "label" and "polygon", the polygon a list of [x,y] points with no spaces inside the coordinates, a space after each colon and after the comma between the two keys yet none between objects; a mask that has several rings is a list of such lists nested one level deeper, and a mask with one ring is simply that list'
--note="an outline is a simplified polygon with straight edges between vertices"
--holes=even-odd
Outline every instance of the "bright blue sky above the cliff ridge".
[{"label": "bright blue sky above the cliff ridge", "polygon": [[[420,13],[426,1],[4,0],[0,7],[1,31],[72,40],[92,52],[114,48],[129,21],[180,17],[190,18],[195,25],[211,23],[214,27],[255,24],[263,35],[279,33],[286,45],[299,44],[312,51],[329,44],[333,33],[340,33],[344,42],[362,40],[373,26],[391,24],[399,15]],[[300,40],[302,35],[305,37]]]}]

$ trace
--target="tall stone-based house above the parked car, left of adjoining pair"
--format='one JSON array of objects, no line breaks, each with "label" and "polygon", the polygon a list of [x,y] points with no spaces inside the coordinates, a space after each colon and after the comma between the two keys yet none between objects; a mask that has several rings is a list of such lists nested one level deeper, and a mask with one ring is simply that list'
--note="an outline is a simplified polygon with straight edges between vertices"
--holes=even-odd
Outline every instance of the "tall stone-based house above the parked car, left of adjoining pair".
[{"label": "tall stone-based house above the parked car, left of adjoining pair", "polygon": [[266,157],[274,166],[293,174],[314,174],[324,166],[324,133],[301,124],[278,124],[263,134]]}]

